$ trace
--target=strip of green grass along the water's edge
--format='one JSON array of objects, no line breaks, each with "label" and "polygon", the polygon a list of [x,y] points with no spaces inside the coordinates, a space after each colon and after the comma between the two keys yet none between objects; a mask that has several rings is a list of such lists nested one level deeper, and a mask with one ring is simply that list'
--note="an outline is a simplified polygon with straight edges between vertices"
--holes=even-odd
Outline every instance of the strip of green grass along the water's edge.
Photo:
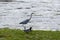
[{"label": "strip of green grass along the water's edge", "polygon": [[0,29],[0,40],[60,40],[59,31],[34,30],[25,33],[19,29]]}]

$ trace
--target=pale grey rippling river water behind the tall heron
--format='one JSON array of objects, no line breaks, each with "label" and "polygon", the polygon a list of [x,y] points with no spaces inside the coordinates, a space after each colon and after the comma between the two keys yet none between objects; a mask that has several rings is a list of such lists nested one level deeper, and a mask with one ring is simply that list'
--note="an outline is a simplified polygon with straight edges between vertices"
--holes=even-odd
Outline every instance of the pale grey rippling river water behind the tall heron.
[{"label": "pale grey rippling river water behind the tall heron", "polygon": [[20,0],[18,2],[0,2],[0,28],[23,29],[19,24],[32,19],[25,26],[33,30],[60,30],[59,0]]}]

